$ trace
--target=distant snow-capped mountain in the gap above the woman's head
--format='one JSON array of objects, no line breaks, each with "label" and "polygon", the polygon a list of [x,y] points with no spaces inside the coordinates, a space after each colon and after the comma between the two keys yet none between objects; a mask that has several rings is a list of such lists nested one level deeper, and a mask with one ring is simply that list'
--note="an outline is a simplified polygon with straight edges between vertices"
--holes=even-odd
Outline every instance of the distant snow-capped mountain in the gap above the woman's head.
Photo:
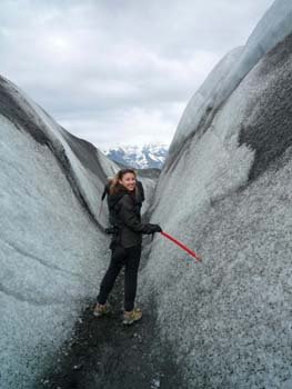
[{"label": "distant snow-capped mountain in the gap above the woman's head", "polygon": [[137,169],[161,169],[169,147],[162,143],[144,146],[117,146],[102,150],[111,160]]}]

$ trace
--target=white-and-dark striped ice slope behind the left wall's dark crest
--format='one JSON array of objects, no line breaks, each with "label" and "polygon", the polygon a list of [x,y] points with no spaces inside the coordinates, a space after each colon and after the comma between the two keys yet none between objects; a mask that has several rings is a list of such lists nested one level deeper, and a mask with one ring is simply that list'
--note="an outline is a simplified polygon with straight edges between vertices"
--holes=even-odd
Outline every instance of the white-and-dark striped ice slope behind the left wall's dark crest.
[{"label": "white-and-dark striped ice slope behind the left wall's dark crest", "polygon": [[[119,167],[110,160],[101,166],[99,162],[104,158],[98,149],[62,129],[17,86],[3,78],[0,81],[2,90],[12,99],[12,103],[36,126],[36,130],[31,131],[32,137],[37,140],[42,137],[42,142],[46,142],[58,158],[72,188],[101,226],[98,218],[101,200],[97,194],[102,192],[107,176],[112,176]],[[16,120],[13,113],[9,116],[11,120]],[[23,126],[23,120],[21,124],[24,131],[29,131],[29,126]]]}]

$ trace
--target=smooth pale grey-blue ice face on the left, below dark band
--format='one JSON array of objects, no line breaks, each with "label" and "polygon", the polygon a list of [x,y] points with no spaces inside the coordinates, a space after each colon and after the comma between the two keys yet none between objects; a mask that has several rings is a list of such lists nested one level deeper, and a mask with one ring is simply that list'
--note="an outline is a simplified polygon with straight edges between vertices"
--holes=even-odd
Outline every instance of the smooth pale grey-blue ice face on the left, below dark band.
[{"label": "smooth pale grey-blue ice face on the left, below dark band", "polygon": [[0,116],[1,388],[31,388],[97,292],[107,240],[47,146]]}]

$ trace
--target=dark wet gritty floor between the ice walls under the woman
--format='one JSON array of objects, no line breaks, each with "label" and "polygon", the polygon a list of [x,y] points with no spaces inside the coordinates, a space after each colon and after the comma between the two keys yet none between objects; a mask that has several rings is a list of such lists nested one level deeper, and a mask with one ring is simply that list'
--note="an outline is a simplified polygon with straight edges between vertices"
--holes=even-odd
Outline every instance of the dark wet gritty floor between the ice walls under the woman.
[{"label": "dark wet gritty floor between the ice walls under the woman", "polygon": [[[143,261],[144,257],[141,267]],[[73,337],[60,348],[56,365],[39,378],[36,389],[183,388],[170,346],[160,342],[157,310],[150,301],[148,307],[138,303],[143,309],[141,321],[122,326],[122,271],[109,298],[112,312],[95,318],[90,301]]]}]

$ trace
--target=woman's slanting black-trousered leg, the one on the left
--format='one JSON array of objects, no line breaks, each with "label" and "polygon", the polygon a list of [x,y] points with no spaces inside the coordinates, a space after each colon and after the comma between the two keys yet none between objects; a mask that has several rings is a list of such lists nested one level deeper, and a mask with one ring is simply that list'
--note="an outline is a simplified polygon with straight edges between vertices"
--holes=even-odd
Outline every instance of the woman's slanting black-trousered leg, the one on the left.
[{"label": "woman's slanting black-trousered leg, the one on the left", "polygon": [[104,305],[107,302],[108,296],[111,292],[114,281],[124,265],[127,252],[121,246],[115,247],[112,250],[111,262],[109,268],[101,281],[100,291],[98,296],[98,302]]}]

